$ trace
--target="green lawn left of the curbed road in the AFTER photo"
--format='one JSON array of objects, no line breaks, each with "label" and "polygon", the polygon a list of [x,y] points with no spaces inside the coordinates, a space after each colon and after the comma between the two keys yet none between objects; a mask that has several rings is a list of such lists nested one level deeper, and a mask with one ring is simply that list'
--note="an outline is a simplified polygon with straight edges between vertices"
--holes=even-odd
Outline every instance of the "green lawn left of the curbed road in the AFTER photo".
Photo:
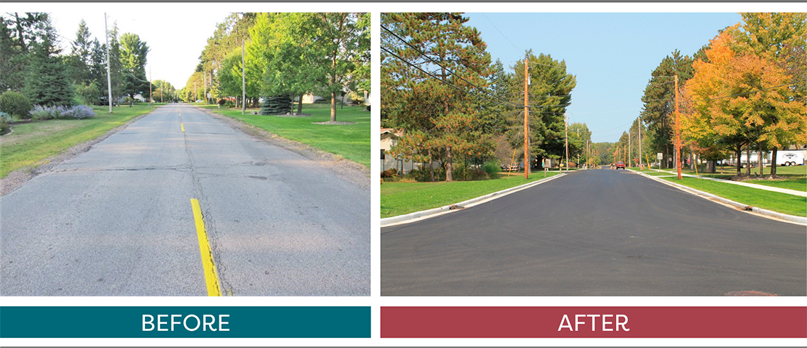
[{"label": "green lawn left of the curbed road in the AFTER photo", "polygon": [[[560,174],[550,171],[547,178]],[[523,185],[544,178],[543,173],[498,174],[499,178],[459,182],[384,182],[381,185],[381,217],[399,216],[410,212],[438,208],[495,191]]]}]

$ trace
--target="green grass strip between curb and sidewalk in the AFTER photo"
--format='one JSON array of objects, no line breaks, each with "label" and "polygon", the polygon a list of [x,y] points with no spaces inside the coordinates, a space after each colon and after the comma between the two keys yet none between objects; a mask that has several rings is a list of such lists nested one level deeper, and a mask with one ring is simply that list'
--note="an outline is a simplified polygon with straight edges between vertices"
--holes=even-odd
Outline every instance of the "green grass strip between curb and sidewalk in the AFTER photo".
[{"label": "green grass strip between curb and sidewalk in the AFTER photo", "polygon": [[663,178],[696,190],[709,192],[713,195],[731,199],[735,202],[751,205],[752,207],[772,210],[795,216],[807,216],[807,197],[788,195],[779,192],[759,190],[752,187],[742,187],[726,182],[700,180],[699,178]]}]

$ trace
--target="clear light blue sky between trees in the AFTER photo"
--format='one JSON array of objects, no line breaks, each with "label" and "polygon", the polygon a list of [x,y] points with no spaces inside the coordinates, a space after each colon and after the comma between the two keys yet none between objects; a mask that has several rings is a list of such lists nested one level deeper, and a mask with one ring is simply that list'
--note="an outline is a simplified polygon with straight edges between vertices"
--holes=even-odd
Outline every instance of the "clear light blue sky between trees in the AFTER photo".
[{"label": "clear light blue sky between trees in the AFTER photo", "polygon": [[[581,4],[580,6],[584,6]],[[737,13],[469,13],[493,61],[505,69],[526,49],[566,61],[576,75],[569,122],[585,122],[592,140],[616,141],[642,108],[650,73],[676,48],[692,55],[741,21]],[[487,17],[487,18],[486,18]],[[491,24],[492,23],[492,24]],[[497,30],[498,28],[498,30]],[[501,31],[501,32],[500,32]],[[509,40],[509,41],[508,41]],[[512,41],[512,44],[511,44]]]}]

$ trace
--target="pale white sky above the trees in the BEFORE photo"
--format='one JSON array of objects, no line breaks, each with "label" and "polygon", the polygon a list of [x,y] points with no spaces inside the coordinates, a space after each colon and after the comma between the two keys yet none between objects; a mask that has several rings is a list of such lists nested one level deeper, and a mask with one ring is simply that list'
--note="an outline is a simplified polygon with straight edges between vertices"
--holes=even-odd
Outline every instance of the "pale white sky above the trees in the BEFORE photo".
[{"label": "pale white sky above the trees in the BEFORE photo", "polygon": [[[72,8],[48,11],[53,26],[59,35],[64,36],[60,38],[64,53],[70,52],[69,40],[75,40],[82,19],[90,28],[90,35],[103,44],[104,9],[88,9],[95,7],[88,3],[70,5]],[[125,9],[107,9],[108,24],[111,28],[117,22],[121,34],[139,35],[140,40],[151,48],[146,75],[150,68],[153,80],[165,80],[180,89],[199,63],[199,54],[207,44],[207,38],[213,35],[215,24],[224,21],[229,12],[211,10],[211,6],[204,4],[187,4],[182,8],[182,15],[178,15],[174,11],[160,10],[161,6],[144,3],[128,4]]]}]

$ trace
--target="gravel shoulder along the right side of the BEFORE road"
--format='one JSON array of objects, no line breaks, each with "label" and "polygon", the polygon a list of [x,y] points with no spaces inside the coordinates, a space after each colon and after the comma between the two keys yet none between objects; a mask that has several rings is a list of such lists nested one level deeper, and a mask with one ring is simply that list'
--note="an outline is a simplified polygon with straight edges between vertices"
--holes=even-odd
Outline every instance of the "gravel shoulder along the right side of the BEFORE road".
[{"label": "gravel shoulder along the right side of the BEFORE road", "polygon": [[323,168],[332,170],[341,178],[345,178],[349,182],[353,182],[354,184],[367,190],[370,189],[369,166],[364,166],[356,161],[350,161],[349,159],[341,157],[336,153],[329,153],[328,151],[318,149],[312,145],[303,144],[297,140],[291,140],[283,136],[279,136],[273,132],[267,131],[266,129],[257,127],[253,124],[248,124],[240,119],[236,119],[228,115],[220,114],[214,110],[196,107],[193,105],[191,105],[191,107],[194,107],[197,110],[214,117],[215,119],[220,119],[229,126],[236,128],[241,132],[245,132],[249,136],[253,136],[270,145],[278,146],[282,149],[286,149],[293,153],[297,153],[300,156],[306,157],[309,160],[315,161]]}]

